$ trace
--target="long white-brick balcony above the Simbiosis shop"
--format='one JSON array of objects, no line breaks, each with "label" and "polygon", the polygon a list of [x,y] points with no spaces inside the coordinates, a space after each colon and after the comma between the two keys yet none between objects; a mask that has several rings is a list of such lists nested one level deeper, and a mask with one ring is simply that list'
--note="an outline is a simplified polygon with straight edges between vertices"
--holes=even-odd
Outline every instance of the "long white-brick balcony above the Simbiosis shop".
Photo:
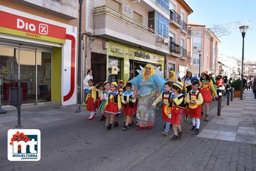
[{"label": "long white-brick balcony above the Simbiosis shop", "polygon": [[108,6],[95,7],[93,15],[95,35],[161,54],[169,53],[168,43],[157,41],[154,29]]}]

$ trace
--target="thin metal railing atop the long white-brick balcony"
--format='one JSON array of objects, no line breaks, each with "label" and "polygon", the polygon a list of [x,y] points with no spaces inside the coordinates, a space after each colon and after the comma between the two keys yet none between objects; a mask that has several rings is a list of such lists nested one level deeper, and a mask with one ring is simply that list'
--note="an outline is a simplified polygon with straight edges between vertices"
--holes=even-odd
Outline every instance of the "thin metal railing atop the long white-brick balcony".
[{"label": "thin metal railing atop the long white-brick balcony", "polygon": [[93,14],[97,14],[97,13],[102,13],[102,12],[109,12],[110,14],[116,16],[116,17],[119,17],[123,20],[126,20],[128,21],[129,23],[135,25],[135,26],[138,26],[144,30],[147,30],[148,32],[151,32],[151,33],[154,33],[155,34],[155,31],[154,29],[150,29],[148,26],[145,26],[143,25],[142,23],[139,23],[138,21],[130,18],[130,17],[127,17],[125,16],[124,14],[120,13],[120,12],[117,12],[111,8],[109,8],[108,6],[99,6],[99,7],[95,7],[93,9]]}]

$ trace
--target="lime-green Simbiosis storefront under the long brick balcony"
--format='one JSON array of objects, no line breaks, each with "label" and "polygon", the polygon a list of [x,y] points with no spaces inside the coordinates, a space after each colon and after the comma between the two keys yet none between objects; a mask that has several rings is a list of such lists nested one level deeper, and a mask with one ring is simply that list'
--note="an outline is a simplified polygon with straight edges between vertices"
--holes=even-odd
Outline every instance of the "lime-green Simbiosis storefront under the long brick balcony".
[{"label": "lime-green Simbiosis storefront under the long brick balcony", "polygon": [[108,81],[124,80],[134,78],[146,64],[152,64],[154,68],[160,66],[164,70],[164,56],[137,49],[120,43],[108,42],[107,78]]}]

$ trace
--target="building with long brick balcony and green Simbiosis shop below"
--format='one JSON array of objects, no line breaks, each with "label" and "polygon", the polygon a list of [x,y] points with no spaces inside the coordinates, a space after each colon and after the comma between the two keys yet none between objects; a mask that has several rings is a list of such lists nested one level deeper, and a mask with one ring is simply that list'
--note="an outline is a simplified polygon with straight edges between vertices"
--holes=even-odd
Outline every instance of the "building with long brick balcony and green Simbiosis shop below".
[{"label": "building with long brick balcony and green Simbiosis shop below", "polygon": [[164,70],[169,53],[166,0],[87,0],[84,73],[97,82],[134,78],[150,63]]}]

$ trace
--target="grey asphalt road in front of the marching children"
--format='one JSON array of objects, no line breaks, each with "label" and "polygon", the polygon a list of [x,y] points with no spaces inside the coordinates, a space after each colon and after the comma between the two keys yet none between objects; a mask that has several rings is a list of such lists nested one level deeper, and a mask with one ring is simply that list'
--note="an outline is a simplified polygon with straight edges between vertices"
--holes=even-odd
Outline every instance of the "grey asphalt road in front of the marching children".
[{"label": "grey asphalt road in front of the marching children", "polygon": [[[216,102],[210,105],[210,109],[215,107],[213,113],[216,105]],[[0,137],[0,171],[125,171],[150,158],[149,154],[170,143],[173,136],[172,131],[167,137],[160,134],[164,125],[160,112],[152,130],[140,131],[136,127],[123,131],[123,116],[118,119],[119,127],[111,131],[105,130],[99,115],[91,121],[86,117],[76,116],[41,126],[41,160],[38,162],[9,162],[7,137]],[[201,125],[205,123],[202,121]],[[190,123],[184,123],[185,133],[190,127]],[[185,136],[184,141],[188,138]]]}]

